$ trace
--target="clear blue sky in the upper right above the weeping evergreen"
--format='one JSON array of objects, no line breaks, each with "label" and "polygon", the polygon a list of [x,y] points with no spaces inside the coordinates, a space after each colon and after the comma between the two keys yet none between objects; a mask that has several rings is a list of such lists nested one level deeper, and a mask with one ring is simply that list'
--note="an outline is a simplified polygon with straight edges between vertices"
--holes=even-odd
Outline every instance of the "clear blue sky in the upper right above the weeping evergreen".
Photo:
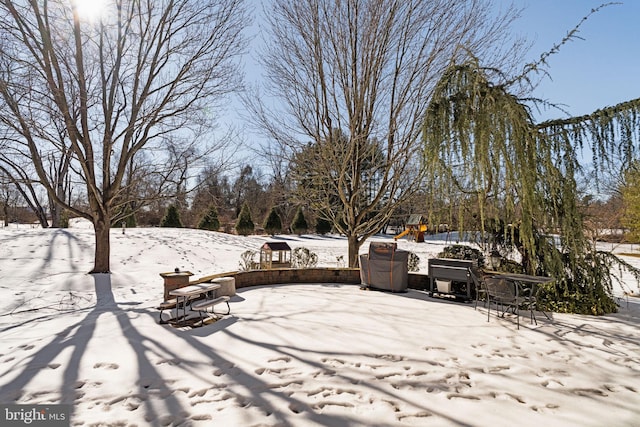
[{"label": "clear blue sky in the upper right above the weeping evergreen", "polygon": [[[517,30],[535,41],[533,60],[559,42],[592,8],[594,0],[514,0],[526,9]],[[549,58],[549,72],[535,96],[565,104],[571,115],[640,98],[640,0],[622,0],[591,15],[578,33]],[[559,118],[548,111],[540,119]]]}]

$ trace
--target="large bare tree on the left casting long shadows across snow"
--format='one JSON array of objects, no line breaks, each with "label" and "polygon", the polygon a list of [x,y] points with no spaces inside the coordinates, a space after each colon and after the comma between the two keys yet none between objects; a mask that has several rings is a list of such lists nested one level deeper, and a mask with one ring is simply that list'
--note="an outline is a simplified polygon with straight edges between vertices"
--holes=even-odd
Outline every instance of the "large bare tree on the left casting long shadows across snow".
[{"label": "large bare tree on the left casting long shadows across snow", "polygon": [[[109,230],[136,181],[128,174],[153,175],[159,185],[149,190],[159,194],[171,175],[166,144],[206,145],[212,113],[240,84],[246,23],[242,0],[115,0],[95,21],[74,1],[0,1],[2,123],[20,135],[16,150],[49,196],[93,223],[92,272],[110,270]],[[86,209],[61,200],[46,179],[47,153],[61,149],[48,132],[55,117]]]}]

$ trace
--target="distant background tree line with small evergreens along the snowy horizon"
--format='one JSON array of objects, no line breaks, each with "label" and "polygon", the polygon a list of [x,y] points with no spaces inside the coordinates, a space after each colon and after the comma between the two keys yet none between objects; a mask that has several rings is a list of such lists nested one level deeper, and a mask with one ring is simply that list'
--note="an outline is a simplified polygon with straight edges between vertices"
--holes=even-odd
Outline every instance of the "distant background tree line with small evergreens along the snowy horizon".
[{"label": "distant background tree line with small evergreens along the snowy horizon", "polygon": [[[599,196],[593,195],[588,187],[591,181],[585,175],[580,184],[579,205],[585,219],[585,228],[597,241],[612,243],[640,243],[640,166],[633,162],[622,170],[611,169],[602,177]],[[142,209],[132,211],[114,227],[190,227],[227,233],[238,232],[236,225],[240,212],[245,207],[245,217],[251,219],[251,226],[242,227],[242,233],[264,232],[298,234],[297,230],[326,234],[335,232],[330,221],[320,217],[309,207],[298,205],[298,199],[289,193],[291,188],[278,187],[275,183],[263,182],[253,173],[250,166],[240,169],[238,178],[230,180],[228,175],[213,171],[204,172],[199,184],[193,190],[193,196],[159,198]],[[243,188],[241,188],[243,187]],[[73,194],[72,194],[73,196]],[[451,194],[453,196],[453,194]],[[51,211],[41,204],[42,197],[29,198],[18,190],[18,186],[6,174],[0,173],[0,221],[4,226],[16,223],[33,223],[46,220],[51,227],[66,227],[69,212],[60,209],[56,222],[52,221]],[[76,199],[78,199],[76,197]],[[37,205],[30,203],[36,200]],[[253,203],[252,201],[259,201]],[[39,206],[35,208],[34,206]],[[451,209],[451,208],[454,209]],[[458,209],[460,207],[461,209]],[[42,214],[42,220],[37,213]],[[391,225],[392,230],[404,227],[406,219],[412,213],[429,213],[432,222],[429,232],[436,232],[439,224],[446,223],[464,230],[479,229],[477,210],[453,198],[427,205],[427,194],[418,193],[412,199],[398,206],[394,216],[380,231]],[[178,220],[172,219],[178,217]],[[304,219],[307,224],[299,226]]]}]

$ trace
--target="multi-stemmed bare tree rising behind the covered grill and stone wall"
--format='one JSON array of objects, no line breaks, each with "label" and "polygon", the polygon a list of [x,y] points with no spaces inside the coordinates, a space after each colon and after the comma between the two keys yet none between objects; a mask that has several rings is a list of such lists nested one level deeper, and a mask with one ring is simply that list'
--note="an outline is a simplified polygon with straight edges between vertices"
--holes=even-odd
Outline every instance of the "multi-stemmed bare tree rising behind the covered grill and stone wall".
[{"label": "multi-stemmed bare tree rising behind the covered grill and stone wall", "polygon": [[[422,118],[446,65],[466,49],[504,64],[515,14],[496,10],[485,0],[275,0],[265,11],[268,94],[284,107],[248,104],[275,151],[293,158],[311,141],[330,154],[314,162],[324,181],[307,199],[347,236],[349,266],[420,189]],[[371,149],[381,158],[365,186]]]}]

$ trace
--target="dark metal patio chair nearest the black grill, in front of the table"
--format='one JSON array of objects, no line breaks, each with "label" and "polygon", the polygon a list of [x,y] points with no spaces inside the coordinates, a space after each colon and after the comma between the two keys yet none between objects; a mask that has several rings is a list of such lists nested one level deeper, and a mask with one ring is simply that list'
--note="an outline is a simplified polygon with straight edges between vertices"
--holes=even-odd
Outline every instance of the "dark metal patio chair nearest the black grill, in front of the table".
[{"label": "dark metal patio chair nearest the black grill, in front of the table", "polygon": [[530,289],[524,288],[515,281],[492,277],[484,280],[484,287],[488,304],[487,322],[491,314],[491,304],[494,303],[496,305],[496,313],[500,317],[504,317],[507,311],[511,311],[516,315],[518,329],[520,329],[520,307],[527,308],[531,323],[538,324],[534,314],[535,298],[531,296]]}]

